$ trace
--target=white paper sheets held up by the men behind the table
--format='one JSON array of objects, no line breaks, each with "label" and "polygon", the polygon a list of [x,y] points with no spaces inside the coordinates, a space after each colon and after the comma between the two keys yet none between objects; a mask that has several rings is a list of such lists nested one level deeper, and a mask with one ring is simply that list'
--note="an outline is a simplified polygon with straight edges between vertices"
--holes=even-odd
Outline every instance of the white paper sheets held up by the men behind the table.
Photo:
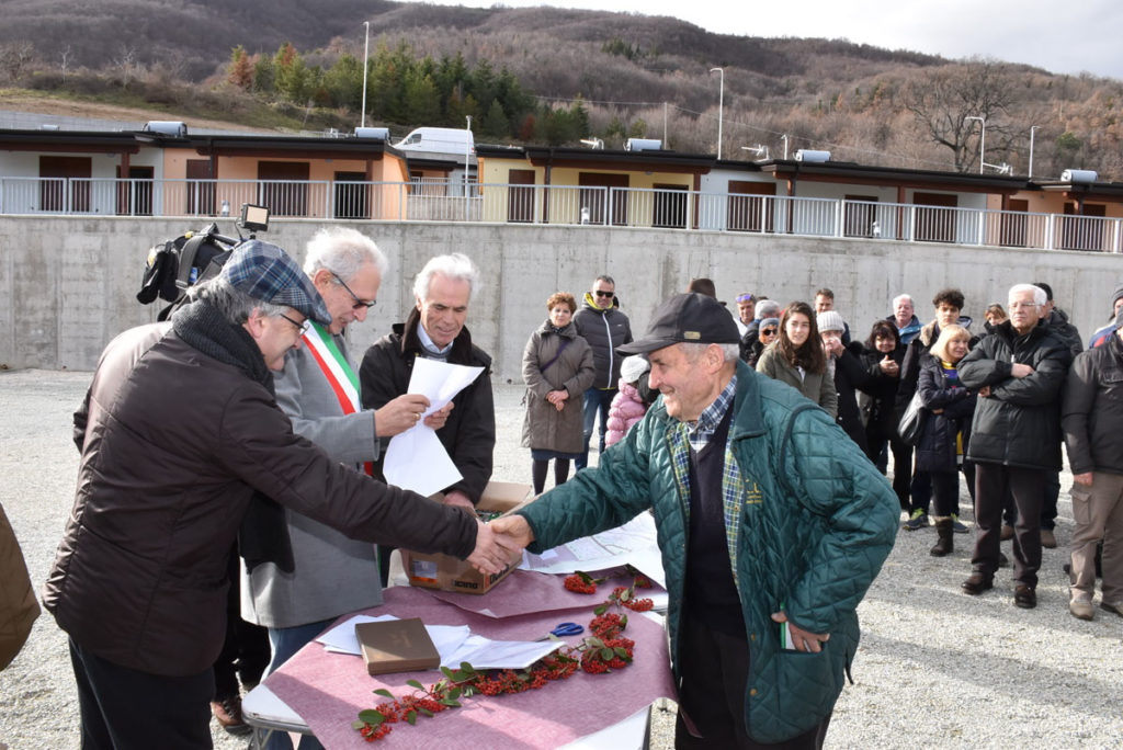
[{"label": "white paper sheets held up by the men behind the table", "polygon": [[413,362],[408,393],[423,394],[430,404],[417,424],[391,438],[382,464],[387,484],[428,496],[463,478],[437,433],[426,427],[424,418],[444,409],[482,372],[483,367],[449,365],[423,357]]}]

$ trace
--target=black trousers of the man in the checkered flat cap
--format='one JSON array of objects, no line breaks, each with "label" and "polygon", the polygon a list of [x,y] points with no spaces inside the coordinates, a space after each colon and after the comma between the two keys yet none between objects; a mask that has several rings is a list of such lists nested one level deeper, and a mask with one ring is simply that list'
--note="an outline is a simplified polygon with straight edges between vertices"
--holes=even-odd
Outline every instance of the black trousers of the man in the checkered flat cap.
[{"label": "black trousers of the man in the checkered flat cap", "polygon": [[82,750],[211,748],[210,669],[191,677],[121,667],[70,641],[82,717]]}]

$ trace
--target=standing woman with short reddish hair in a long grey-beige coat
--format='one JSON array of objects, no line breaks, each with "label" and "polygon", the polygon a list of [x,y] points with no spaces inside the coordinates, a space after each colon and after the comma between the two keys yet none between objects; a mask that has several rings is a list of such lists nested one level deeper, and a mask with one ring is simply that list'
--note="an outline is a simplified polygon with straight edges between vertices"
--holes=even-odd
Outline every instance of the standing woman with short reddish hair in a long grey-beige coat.
[{"label": "standing woman with short reddish hair in a long grey-beige coat", "polygon": [[585,447],[582,394],[593,384],[593,350],[577,336],[573,313],[577,302],[568,292],[546,301],[549,317],[530,335],[522,353],[527,383],[527,417],[522,447],[530,448],[535,494],[546,486],[546,470],[554,459],[554,484],[569,477],[569,461]]}]

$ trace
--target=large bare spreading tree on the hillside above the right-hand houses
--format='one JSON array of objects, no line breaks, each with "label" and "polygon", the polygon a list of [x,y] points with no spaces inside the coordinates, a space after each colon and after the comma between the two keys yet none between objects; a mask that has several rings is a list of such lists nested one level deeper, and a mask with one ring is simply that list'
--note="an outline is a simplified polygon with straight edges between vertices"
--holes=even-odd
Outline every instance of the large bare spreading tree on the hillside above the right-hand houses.
[{"label": "large bare spreading tree on the hillside above the right-hand houses", "polygon": [[949,149],[957,172],[978,166],[980,128],[969,117],[986,120],[987,141],[999,153],[1013,134],[1003,121],[1015,102],[1016,88],[1001,63],[971,61],[933,68],[905,86],[903,102],[916,125]]}]

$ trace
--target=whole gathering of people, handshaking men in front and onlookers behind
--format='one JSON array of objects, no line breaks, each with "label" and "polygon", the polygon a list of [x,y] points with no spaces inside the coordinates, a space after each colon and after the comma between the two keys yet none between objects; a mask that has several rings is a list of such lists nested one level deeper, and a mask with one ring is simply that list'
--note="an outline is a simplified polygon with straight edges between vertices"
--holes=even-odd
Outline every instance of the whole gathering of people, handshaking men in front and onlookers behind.
[{"label": "whole gathering of people, handshaking men in front and onlookers behind", "polygon": [[[70,637],[83,747],[209,747],[210,712],[245,731],[237,678],[249,687],[339,615],[381,604],[395,546],[494,573],[524,547],[650,511],[676,747],[818,748],[857,650],[857,605],[898,528],[934,525],[933,556],[969,531],[960,474],[977,527],[962,589],[994,587],[1012,539],[1013,602],[1035,606],[1062,442],[1070,612],[1094,616],[1102,567],[1099,605],[1123,616],[1123,287],[1085,350],[1043,283],[988,305],[983,330],[959,290],[935,294],[926,323],[901,294],[860,338],[829,289],[811,303],[742,293],[734,311],[695,278],[633,339],[600,275],[579,305],[549,295],[523,351],[539,496],[483,523],[465,512],[495,447],[492,360],[466,324],[480,272],[459,254],[429,259],[404,321],[356,365],[344,333],[387,273],[353,229],[318,232],[303,267],[254,240],[171,322],[106,349],[75,414],[81,476],[44,595]],[[418,358],[481,374],[433,411],[409,392]],[[460,474],[438,499],[385,483],[389,440],[419,423]]]}]

